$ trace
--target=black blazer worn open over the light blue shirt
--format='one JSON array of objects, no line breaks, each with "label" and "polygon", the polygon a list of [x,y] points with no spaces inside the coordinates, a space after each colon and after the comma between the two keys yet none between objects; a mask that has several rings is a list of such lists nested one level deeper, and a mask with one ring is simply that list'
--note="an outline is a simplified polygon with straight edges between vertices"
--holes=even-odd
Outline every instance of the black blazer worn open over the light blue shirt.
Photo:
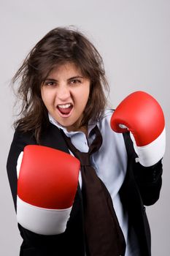
[{"label": "black blazer worn open over the light blue shirt", "polygon": [[[123,206],[128,211],[129,222],[134,227],[142,255],[150,256],[150,227],[144,205],[152,205],[158,200],[161,189],[162,164],[160,161],[152,167],[142,167],[142,165],[136,163],[136,154],[130,136],[128,133],[123,136],[128,151],[128,167],[125,181],[120,189],[120,198]],[[36,144],[33,132],[15,131],[7,159],[7,174],[15,210],[17,160],[20,151],[23,151],[23,148],[30,144]],[[61,131],[53,124],[49,124],[47,129],[42,132],[39,144],[69,153]],[[71,216],[64,233],[55,236],[43,236],[26,230],[19,224],[18,227],[23,238],[23,244],[20,246],[20,256],[85,256],[85,233],[80,187],[77,189]]]}]

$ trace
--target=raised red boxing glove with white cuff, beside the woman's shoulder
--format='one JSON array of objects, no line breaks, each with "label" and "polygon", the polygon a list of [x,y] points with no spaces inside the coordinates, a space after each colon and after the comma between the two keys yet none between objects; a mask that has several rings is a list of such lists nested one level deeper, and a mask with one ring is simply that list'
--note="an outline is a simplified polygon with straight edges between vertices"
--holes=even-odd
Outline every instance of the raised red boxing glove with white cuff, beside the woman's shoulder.
[{"label": "raised red boxing glove with white cuff, beside the woman's shoulder", "polygon": [[166,132],[163,110],[144,91],[136,91],[117,106],[111,118],[115,132],[130,131],[139,162],[145,167],[157,163],[165,152]]}]

